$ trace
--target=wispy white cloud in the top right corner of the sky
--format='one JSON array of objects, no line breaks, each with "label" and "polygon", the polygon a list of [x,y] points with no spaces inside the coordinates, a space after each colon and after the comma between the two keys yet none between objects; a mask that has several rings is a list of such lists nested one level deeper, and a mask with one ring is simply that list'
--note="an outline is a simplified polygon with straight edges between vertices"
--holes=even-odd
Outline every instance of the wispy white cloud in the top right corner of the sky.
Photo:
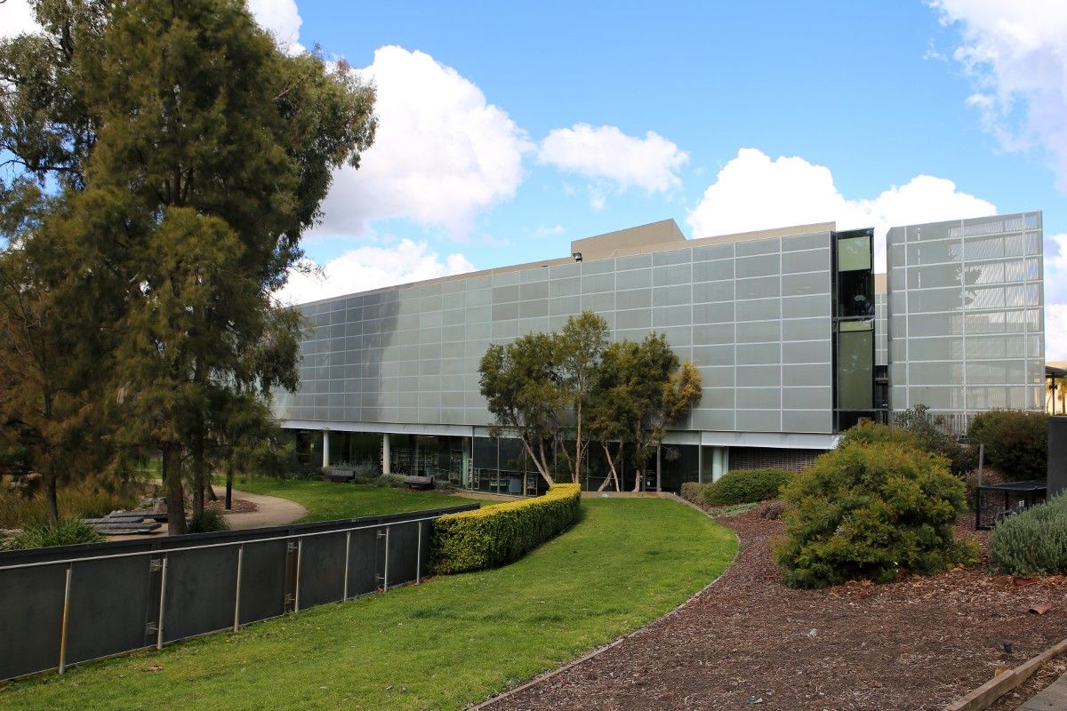
[{"label": "wispy white cloud in the top right corner of the sky", "polygon": [[968,103],[1008,150],[1048,151],[1067,193],[1067,3],[930,0],[962,44],[954,58],[975,82]]}]

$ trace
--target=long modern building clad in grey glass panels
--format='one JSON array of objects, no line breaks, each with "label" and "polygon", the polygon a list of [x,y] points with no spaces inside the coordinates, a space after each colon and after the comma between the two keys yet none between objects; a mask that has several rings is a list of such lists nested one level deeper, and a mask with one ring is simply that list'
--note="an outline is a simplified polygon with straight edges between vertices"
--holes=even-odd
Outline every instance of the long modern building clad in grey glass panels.
[{"label": "long modern building clad in grey glass panels", "polygon": [[920,404],[957,427],[1045,407],[1040,212],[894,227],[886,274],[873,229],[833,223],[688,240],[667,220],[571,251],[303,305],[300,390],[275,414],[324,464],[534,492],[517,443],[489,436],[479,359],[585,309],[616,339],[666,334],[700,368],[703,398],[652,465],[664,488],[801,467],[860,418]]}]

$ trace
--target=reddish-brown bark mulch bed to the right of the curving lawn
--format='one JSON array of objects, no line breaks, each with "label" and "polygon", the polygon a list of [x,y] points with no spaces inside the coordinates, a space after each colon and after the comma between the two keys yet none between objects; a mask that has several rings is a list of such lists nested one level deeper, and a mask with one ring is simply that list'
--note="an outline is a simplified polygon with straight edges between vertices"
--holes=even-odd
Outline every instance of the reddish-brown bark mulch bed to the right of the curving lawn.
[{"label": "reddish-brown bark mulch bed to the right of the curving lawn", "polygon": [[[796,591],[782,584],[770,555],[780,521],[759,508],[718,521],[744,546],[718,582],[621,644],[490,708],[941,709],[998,668],[1067,637],[1067,579],[990,575],[988,534],[964,522],[959,532],[982,546],[978,565]],[[1039,603],[1052,609],[1029,612]]]}]

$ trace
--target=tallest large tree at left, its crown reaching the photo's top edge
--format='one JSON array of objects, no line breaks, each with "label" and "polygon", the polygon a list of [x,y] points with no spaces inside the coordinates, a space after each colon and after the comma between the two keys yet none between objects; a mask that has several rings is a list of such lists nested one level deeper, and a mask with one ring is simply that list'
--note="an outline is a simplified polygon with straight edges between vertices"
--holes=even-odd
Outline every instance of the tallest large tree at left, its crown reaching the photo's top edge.
[{"label": "tallest large tree at left, its crown reaching the photo's top edge", "polygon": [[[302,256],[331,172],[373,140],[373,88],[287,56],[237,0],[38,0],[44,31],[0,47],[14,164],[59,185],[43,233],[84,245],[121,344],[109,416],[160,452],[172,512],[203,486],[227,399],[296,383],[298,318],[272,293]],[[105,286],[107,288],[105,288]],[[278,332],[283,333],[278,333]]]}]

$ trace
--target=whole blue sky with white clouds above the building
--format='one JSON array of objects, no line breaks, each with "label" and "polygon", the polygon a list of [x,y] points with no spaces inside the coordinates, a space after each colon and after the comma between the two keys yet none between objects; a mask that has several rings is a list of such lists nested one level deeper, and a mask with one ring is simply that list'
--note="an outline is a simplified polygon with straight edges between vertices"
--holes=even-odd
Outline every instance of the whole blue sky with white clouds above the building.
[{"label": "whole blue sky with white clouds above the building", "polygon": [[665,217],[706,237],[1040,209],[1047,355],[1067,358],[1067,3],[250,5],[379,92],[378,142],[305,241],[324,276],[288,298]]}]

